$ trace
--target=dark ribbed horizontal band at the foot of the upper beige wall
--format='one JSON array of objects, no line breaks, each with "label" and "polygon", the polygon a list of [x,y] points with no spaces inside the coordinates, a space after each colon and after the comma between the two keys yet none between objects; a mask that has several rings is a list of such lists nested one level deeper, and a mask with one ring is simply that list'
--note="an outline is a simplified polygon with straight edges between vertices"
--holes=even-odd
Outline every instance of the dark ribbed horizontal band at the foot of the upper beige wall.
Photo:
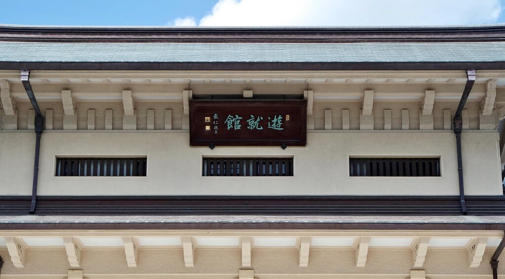
[{"label": "dark ribbed horizontal band at the foot of the upper beige wall", "polygon": [[[459,196],[39,196],[41,215],[459,215]],[[29,196],[0,196],[23,215]],[[505,215],[504,196],[467,197],[471,215]]]}]

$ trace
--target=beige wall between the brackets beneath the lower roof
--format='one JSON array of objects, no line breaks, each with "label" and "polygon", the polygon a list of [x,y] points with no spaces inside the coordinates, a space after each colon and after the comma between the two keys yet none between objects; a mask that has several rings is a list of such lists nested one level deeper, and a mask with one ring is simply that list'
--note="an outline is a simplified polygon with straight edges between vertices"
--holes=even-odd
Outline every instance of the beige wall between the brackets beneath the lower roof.
[{"label": "beige wall between the brackets beneath the lower roof", "polygon": [[[428,278],[491,278],[489,260],[494,250],[486,250],[477,268],[468,267],[465,249],[429,249],[422,268]],[[405,279],[412,269],[409,249],[371,249],[365,267],[355,266],[355,251],[350,249],[311,249],[309,266],[298,267],[296,249],[254,249],[251,253],[255,277],[287,278],[381,278]],[[82,269],[84,277],[98,278],[229,278],[241,269],[239,249],[195,249],[194,267],[184,267],[181,249],[140,249],[136,268],[126,265],[123,249],[85,249],[81,267],[71,268],[64,249],[32,249],[26,266],[16,268],[7,250],[0,249],[5,264],[2,278],[66,277],[68,269]],[[499,258],[498,274],[505,277],[505,254]],[[249,268],[247,268],[249,269]]]}]

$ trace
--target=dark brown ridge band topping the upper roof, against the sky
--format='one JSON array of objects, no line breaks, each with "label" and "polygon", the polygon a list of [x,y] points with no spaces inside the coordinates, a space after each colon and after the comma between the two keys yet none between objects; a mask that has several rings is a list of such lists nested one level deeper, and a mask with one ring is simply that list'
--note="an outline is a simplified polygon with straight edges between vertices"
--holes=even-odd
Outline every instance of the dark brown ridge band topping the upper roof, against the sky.
[{"label": "dark brown ridge band topping the upper roof, against the sky", "polygon": [[0,26],[2,41],[34,42],[445,42],[500,41],[505,26],[456,27],[49,27]]}]

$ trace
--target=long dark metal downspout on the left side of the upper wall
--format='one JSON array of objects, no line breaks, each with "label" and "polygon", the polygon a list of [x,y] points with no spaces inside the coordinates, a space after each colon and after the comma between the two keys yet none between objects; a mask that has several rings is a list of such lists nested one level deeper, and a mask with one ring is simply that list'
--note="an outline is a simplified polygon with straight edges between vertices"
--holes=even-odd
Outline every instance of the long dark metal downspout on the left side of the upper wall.
[{"label": "long dark metal downspout on the left side of the upper wall", "polygon": [[44,130],[44,117],[40,112],[40,108],[38,107],[37,99],[35,98],[35,94],[33,94],[33,90],[30,84],[30,71],[27,69],[21,70],[21,82],[25,87],[26,94],[28,94],[28,98],[33,106],[33,110],[35,110],[35,158],[33,160],[33,186],[32,186],[32,198],[30,204],[30,214],[35,213],[35,205],[37,203],[37,185],[38,185],[38,158],[40,154],[40,136],[42,135],[42,131]]}]

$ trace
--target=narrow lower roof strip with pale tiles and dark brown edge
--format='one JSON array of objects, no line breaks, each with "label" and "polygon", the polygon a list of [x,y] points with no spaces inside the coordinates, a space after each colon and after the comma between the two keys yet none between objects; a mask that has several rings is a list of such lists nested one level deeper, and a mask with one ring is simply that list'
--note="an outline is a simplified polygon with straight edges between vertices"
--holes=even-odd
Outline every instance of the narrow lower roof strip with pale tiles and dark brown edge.
[{"label": "narrow lower roof strip with pale tiles and dark brown edge", "polygon": [[505,230],[505,215],[4,215],[0,230]]}]

